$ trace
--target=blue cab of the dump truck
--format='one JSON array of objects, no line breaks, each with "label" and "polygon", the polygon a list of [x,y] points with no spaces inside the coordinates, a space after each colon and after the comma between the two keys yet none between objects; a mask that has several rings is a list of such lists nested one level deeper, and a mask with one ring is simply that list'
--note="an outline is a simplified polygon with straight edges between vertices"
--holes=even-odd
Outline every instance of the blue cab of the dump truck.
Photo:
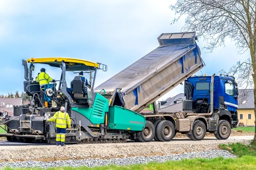
[{"label": "blue cab of the dump truck", "polygon": [[[211,103],[211,84],[213,84],[213,103]],[[183,111],[210,113],[211,117],[226,120],[231,128],[238,124],[238,87],[230,76],[192,76],[184,84]],[[210,106],[213,105],[213,111]]]}]

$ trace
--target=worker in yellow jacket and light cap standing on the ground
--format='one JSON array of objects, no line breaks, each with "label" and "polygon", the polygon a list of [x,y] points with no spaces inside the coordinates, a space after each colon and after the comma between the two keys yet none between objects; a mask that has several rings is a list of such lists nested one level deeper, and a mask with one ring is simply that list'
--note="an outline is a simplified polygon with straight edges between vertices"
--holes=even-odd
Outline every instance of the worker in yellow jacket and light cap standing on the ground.
[{"label": "worker in yellow jacket and light cap standing on the ground", "polygon": [[56,145],[65,146],[65,134],[66,134],[66,127],[68,126],[68,130],[70,130],[70,118],[68,113],[66,113],[64,107],[60,107],[60,111],[56,112],[53,117],[47,119],[47,122],[54,122],[56,121]]}]

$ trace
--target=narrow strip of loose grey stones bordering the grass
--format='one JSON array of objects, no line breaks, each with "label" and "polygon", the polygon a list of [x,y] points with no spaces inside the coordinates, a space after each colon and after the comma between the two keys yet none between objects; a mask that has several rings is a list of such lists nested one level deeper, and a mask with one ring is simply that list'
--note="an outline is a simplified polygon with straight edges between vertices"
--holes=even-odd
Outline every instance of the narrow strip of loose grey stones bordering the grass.
[{"label": "narrow strip of loose grey stones bordering the grass", "polygon": [[183,154],[172,154],[165,156],[132,156],[128,158],[110,158],[110,159],[83,159],[83,160],[57,160],[54,162],[42,162],[42,161],[23,161],[23,162],[2,162],[0,167],[10,166],[13,168],[50,168],[50,167],[63,167],[63,166],[107,166],[110,164],[115,165],[130,165],[130,164],[146,164],[148,162],[165,162],[168,160],[182,160],[192,158],[236,158],[235,155],[230,154],[226,150],[208,150],[205,152],[187,152]]}]

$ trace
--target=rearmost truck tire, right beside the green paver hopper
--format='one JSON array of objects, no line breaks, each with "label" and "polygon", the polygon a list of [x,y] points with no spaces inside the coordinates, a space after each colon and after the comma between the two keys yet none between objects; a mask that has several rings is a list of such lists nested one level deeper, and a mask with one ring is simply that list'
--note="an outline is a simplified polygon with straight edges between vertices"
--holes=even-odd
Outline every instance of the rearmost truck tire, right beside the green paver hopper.
[{"label": "rearmost truck tire, right beside the green paver hopper", "polygon": [[152,122],[146,121],[144,129],[137,133],[137,139],[140,142],[151,142],[154,139],[156,130]]}]

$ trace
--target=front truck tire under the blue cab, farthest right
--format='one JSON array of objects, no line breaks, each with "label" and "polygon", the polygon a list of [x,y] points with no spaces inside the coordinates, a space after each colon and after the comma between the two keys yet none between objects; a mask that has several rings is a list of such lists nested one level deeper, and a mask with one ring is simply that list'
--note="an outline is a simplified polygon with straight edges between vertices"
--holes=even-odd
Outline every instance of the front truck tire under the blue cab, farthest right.
[{"label": "front truck tire under the blue cab, farthest right", "polygon": [[218,122],[217,133],[214,134],[215,137],[219,140],[225,140],[230,136],[231,133],[231,125],[226,120],[220,120]]}]

